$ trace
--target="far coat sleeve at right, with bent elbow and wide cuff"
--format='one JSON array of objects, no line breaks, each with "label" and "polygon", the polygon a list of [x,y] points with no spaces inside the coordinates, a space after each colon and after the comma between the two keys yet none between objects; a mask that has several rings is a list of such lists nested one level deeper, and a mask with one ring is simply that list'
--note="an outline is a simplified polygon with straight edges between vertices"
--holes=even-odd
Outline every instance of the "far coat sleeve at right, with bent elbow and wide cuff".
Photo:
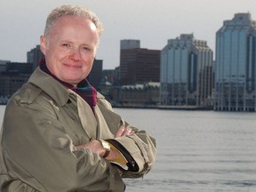
[{"label": "far coat sleeve at right, with bent elbow and wide cuff", "polygon": [[[107,100],[99,100],[99,107],[102,114],[112,130],[113,134],[119,128],[121,116],[114,113]],[[116,122],[116,123],[113,123]],[[116,124],[116,126],[113,124]],[[112,128],[111,128],[112,127]],[[125,123],[125,127],[131,128],[135,134],[131,136],[115,138],[132,156],[138,165],[138,172],[124,172],[124,178],[140,178],[148,173],[156,162],[156,140],[146,131],[139,130],[132,125]]]}]

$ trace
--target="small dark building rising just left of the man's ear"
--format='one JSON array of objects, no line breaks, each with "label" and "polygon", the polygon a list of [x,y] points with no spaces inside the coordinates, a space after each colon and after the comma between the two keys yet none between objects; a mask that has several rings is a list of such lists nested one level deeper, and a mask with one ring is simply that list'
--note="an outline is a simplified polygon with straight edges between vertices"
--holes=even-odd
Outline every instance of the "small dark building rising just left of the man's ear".
[{"label": "small dark building rising just left of the man's ear", "polygon": [[36,67],[39,64],[39,61],[43,57],[44,57],[44,54],[41,52],[39,44],[37,44],[35,48],[33,48],[29,52],[27,52],[27,62],[33,63],[33,70],[36,69]]}]

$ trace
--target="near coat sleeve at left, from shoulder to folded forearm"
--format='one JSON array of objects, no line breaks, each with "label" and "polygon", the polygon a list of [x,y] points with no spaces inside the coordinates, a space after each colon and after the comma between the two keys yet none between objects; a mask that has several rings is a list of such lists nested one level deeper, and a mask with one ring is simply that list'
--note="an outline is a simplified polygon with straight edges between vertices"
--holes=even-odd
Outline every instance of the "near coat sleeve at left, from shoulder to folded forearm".
[{"label": "near coat sleeve at left, from shoulder to folded forearm", "polygon": [[[124,191],[124,182],[108,161],[91,150],[74,152],[72,140],[49,108],[17,98],[11,102],[2,140],[10,180],[38,191]],[[4,185],[11,186],[10,180]]]}]

